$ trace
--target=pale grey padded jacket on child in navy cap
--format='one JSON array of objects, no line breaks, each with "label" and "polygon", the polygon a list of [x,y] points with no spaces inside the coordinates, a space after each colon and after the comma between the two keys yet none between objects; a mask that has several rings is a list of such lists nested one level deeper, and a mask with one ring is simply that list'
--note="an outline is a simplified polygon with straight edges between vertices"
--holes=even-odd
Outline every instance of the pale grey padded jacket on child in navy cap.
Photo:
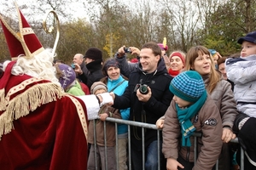
[{"label": "pale grey padded jacket on child in navy cap", "polygon": [[256,54],[228,59],[225,64],[227,76],[235,83],[237,110],[256,117]]}]

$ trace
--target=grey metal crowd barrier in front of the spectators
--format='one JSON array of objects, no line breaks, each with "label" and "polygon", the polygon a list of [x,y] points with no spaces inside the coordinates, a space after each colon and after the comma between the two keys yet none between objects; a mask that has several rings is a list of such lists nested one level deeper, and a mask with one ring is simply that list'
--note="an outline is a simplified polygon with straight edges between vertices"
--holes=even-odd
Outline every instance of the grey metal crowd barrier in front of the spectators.
[{"label": "grey metal crowd barrier in front of the spectators", "polygon": [[[97,117],[99,119],[99,117]],[[145,133],[145,128],[151,128],[157,130],[157,140],[158,140],[158,170],[160,170],[160,131],[161,129],[158,129],[155,124],[150,124],[150,123],[144,123],[144,122],[134,122],[134,121],[127,121],[127,120],[122,120],[122,119],[115,119],[112,117],[107,117],[106,121],[108,122],[113,122],[115,124],[115,140],[116,140],[116,164],[117,164],[117,170],[119,170],[119,156],[118,156],[118,124],[126,124],[128,125],[128,169],[131,168],[131,127],[142,127],[142,143],[143,143],[143,148],[145,148],[145,138],[144,138],[144,133]],[[96,120],[93,120],[94,123],[94,144],[91,145],[91,147],[95,147],[96,150]],[[195,150],[197,150],[197,139],[201,138],[201,133],[194,133],[195,136]],[[105,169],[108,170],[108,161],[107,161],[107,136],[106,136],[106,122],[104,122],[104,142],[105,142]],[[231,143],[238,143],[238,139],[231,139]],[[96,152],[95,152],[95,158],[96,158]],[[195,161],[197,158],[197,152],[195,151]],[[95,159],[96,161],[96,159]],[[97,165],[97,161],[95,162],[95,165]],[[100,167],[96,166],[96,170],[100,170]],[[145,150],[143,150],[143,170],[145,169]],[[218,170],[218,160],[216,162],[215,170]],[[241,165],[240,165],[240,170],[244,170],[244,150],[241,148]]]}]

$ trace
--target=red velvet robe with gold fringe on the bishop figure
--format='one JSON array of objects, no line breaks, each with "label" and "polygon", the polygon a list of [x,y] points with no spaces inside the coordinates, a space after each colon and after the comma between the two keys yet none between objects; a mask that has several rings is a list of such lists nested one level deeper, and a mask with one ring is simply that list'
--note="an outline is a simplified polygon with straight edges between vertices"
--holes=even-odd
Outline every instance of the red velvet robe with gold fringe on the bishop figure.
[{"label": "red velvet robe with gold fringe on the bishop figure", "polygon": [[5,96],[0,169],[86,169],[88,121],[81,99],[26,75],[11,76]]}]

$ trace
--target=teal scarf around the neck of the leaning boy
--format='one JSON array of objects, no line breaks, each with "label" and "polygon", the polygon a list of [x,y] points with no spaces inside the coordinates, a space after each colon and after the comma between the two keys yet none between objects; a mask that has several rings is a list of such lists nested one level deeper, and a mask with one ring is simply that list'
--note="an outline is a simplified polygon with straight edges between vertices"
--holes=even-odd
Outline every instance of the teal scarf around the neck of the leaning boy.
[{"label": "teal scarf around the neck of the leaning boy", "polygon": [[201,110],[206,100],[207,91],[205,90],[195,104],[190,105],[187,109],[181,109],[176,104],[177,118],[181,124],[181,133],[183,134],[183,146],[191,146],[189,137],[195,132],[195,127],[190,120]]}]

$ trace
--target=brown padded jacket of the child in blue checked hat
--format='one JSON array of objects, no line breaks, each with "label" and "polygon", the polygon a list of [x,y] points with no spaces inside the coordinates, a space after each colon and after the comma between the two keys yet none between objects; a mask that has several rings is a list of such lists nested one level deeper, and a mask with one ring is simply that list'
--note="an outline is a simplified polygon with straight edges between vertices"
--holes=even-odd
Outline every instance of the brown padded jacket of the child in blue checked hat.
[{"label": "brown padded jacket of the child in blue checked hat", "polygon": [[[212,169],[222,148],[222,121],[218,107],[208,96],[206,103],[201,107],[198,115],[192,119],[196,132],[202,133],[198,139],[198,158],[193,169]],[[194,137],[190,137],[190,147],[181,147],[181,130],[177,119],[175,102],[166,111],[165,124],[163,127],[162,152],[166,158],[177,159],[178,155],[184,160],[194,162]]]}]

